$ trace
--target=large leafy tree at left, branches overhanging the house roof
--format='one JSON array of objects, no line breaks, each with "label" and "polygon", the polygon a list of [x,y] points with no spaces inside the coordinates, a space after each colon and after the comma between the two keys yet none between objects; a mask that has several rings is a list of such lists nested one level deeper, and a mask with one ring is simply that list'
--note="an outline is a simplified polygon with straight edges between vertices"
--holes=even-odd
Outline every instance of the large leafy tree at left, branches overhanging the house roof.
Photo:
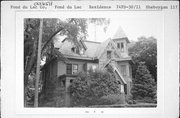
[{"label": "large leafy tree at left, branches overhanging the house roof", "polygon": [[[54,48],[54,36],[66,35],[75,44],[78,39],[85,39],[87,35],[87,21],[91,19],[43,19],[43,35],[41,58],[46,57],[46,62],[53,57],[66,60],[61,52]],[[98,19],[96,19],[98,20]],[[24,100],[26,106],[26,92],[28,76],[35,71],[37,60],[37,45],[40,19],[24,20]]]}]

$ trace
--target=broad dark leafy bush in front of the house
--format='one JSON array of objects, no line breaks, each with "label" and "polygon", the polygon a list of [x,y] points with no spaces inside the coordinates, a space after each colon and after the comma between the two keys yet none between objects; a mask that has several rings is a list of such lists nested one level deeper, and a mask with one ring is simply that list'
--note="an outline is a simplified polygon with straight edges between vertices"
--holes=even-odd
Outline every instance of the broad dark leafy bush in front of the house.
[{"label": "broad dark leafy bush in front of the house", "polygon": [[89,71],[79,73],[70,86],[74,105],[93,105],[98,100],[110,94],[119,94],[119,84],[113,73],[109,71]]}]

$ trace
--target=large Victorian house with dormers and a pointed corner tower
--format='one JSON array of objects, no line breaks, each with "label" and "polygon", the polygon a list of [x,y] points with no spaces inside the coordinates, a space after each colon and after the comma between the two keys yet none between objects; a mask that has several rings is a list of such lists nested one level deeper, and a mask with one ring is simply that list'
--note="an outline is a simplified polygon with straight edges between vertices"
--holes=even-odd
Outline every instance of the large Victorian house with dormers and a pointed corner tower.
[{"label": "large Victorian house with dormers and a pointed corner tower", "polygon": [[[41,69],[45,91],[47,92],[49,89],[49,93],[51,93],[50,88],[56,86],[56,89],[59,88],[59,93],[63,93],[62,96],[65,96],[64,106],[68,106],[70,101],[68,87],[76,79],[78,72],[87,72],[89,69],[104,69],[110,65],[116,78],[120,81],[121,93],[128,97],[132,83],[128,43],[129,40],[121,27],[112,38],[102,43],[87,40],[74,42],[68,38],[64,39],[58,50],[68,61],[53,58]],[[56,85],[50,84],[52,82]]]}]

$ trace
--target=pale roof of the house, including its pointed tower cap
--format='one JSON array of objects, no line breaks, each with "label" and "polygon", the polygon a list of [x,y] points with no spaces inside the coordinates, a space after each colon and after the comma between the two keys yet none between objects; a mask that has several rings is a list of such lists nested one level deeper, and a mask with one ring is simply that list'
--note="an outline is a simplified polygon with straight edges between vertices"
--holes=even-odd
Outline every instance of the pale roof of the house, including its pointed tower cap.
[{"label": "pale roof of the house, including its pointed tower cap", "polygon": [[[124,59],[123,55],[121,55],[121,53],[119,53],[117,47],[116,47],[116,43],[115,40],[128,40],[124,31],[122,30],[121,27],[118,28],[117,32],[115,33],[115,35],[112,38],[109,38],[107,40],[105,40],[104,42],[100,43],[100,42],[94,42],[94,41],[87,41],[87,40],[81,40],[81,39],[73,39],[71,40],[70,38],[65,38],[62,41],[62,45],[59,48],[59,51],[66,55],[66,56],[74,56],[74,57],[86,57],[86,58],[98,58],[100,59],[101,56],[103,55],[104,51],[107,50],[108,48],[108,44],[111,43],[113,49],[116,52],[116,55],[119,57],[119,59],[123,59],[123,60],[131,60],[131,59]],[[82,49],[84,49],[84,54],[82,53],[75,53],[72,51],[73,48],[78,48],[78,51],[83,51]],[[121,61],[121,60],[119,60]]]}]

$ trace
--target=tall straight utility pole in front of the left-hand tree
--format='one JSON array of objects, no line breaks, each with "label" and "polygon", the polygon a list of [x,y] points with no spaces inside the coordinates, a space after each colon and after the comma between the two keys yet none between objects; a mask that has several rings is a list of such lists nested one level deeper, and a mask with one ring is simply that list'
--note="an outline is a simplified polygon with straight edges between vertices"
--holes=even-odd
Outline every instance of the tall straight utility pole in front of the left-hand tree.
[{"label": "tall straight utility pole in front of the left-hand tree", "polygon": [[39,78],[40,78],[40,61],[41,61],[42,31],[43,31],[43,19],[40,19],[39,41],[38,41],[38,54],[37,54],[37,67],[36,67],[35,96],[34,96],[34,107],[38,107],[38,93],[39,93]]}]

